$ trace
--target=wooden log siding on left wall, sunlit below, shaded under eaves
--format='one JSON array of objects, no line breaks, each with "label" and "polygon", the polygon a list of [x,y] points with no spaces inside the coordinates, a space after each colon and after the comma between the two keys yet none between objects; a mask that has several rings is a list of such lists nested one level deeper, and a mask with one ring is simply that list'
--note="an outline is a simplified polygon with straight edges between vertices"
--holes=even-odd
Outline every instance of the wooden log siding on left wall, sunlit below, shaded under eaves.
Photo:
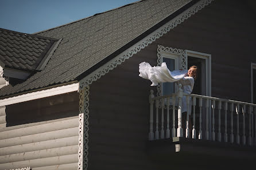
[{"label": "wooden log siding on left wall, sunlit below, shaded under eaves", "polygon": [[6,106],[0,169],[77,169],[78,100],[73,92]]}]

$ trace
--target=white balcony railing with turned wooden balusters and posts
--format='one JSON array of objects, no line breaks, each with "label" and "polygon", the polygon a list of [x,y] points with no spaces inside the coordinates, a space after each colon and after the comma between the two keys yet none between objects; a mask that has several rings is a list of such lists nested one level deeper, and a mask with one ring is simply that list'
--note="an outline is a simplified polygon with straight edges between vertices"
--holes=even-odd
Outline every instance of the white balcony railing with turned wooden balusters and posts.
[{"label": "white balcony railing with turned wooden balusters and posts", "polygon": [[[182,125],[182,118],[184,117],[182,114],[184,113],[181,113],[183,96],[186,96],[187,108],[189,108],[189,102],[192,98],[192,122],[189,121],[189,114],[187,113],[185,126]],[[184,136],[192,139],[255,145],[256,104],[185,94],[181,89],[181,84],[179,84],[177,93],[166,96],[154,97],[153,90],[151,90],[149,102],[149,140]],[[171,124],[172,127],[170,127]],[[189,129],[189,124],[192,124],[192,129]],[[185,135],[183,135],[183,131]]]}]

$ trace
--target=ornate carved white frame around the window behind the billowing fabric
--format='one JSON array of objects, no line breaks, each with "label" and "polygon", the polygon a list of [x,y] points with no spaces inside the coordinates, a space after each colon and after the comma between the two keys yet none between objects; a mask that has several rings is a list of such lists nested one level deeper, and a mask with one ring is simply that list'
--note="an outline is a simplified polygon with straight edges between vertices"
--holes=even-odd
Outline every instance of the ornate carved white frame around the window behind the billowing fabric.
[{"label": "ornate carved white frame around the window behind the billowing fabric", "polygon": [[[183,49],[173,49],[169,47],[164,47],[162,45],[158,45],[157,48],[157,66],[161,66],[162,64],[162,53],[170,53],[176,54],[180,57],[179,69],[187,69],[187,58],[185,56],[185,50]],[[162,96],[162,84],[157,85],[157,96]]]}]

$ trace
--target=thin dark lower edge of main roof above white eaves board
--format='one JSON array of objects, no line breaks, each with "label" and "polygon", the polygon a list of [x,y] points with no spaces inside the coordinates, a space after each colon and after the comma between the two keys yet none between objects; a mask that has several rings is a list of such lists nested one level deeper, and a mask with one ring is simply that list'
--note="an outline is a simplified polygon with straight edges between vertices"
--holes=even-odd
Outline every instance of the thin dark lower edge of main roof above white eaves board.
[{"label": "thin dark lower edge of main roof above white eaves board", "polygon": [[75,81],[69,81],[69,82],[64,82],[64,83],[59,83],[59,84],[55,84],[55,85],[46,86],[44,88],[38,88],[38,89],[33,89],[33,90],[25,90],[25,91],[22,91],[21,93],[14,93],[14,94],[10,94],[8,96],[1,96],[0,100],[5,99],[5,98],[20,96],[22,94],[28,94],[28,93],[38,92],[38,91],[41,91],[41,90],[48,90],[48,89],[52,89],[52,88],[57,88],[59,86],[75,84],[77,82],[78,81],[75,80]]}]

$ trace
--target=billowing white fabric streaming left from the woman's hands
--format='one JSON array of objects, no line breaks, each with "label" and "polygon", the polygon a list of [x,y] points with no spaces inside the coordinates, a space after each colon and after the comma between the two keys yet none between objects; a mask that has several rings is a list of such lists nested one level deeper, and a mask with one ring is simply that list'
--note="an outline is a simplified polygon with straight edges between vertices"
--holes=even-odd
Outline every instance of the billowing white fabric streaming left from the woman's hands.
[{"label": "billowing white fabric streaming left from the woman's hands", "polygon": [[166,63],[161,66],[151,66],[148,62],[139,64],[139,76],[152,81],[151,86],[156,86],[160,82],[175,82],[180,80],[188,73],[188,70],[174,70],[170,72]]}]

